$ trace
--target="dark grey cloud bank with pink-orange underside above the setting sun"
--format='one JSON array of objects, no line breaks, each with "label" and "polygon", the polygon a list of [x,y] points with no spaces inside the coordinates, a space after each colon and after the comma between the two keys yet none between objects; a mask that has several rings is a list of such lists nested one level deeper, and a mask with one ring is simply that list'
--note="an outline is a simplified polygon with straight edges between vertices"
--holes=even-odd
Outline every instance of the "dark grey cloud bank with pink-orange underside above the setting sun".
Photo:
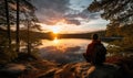
[{"label": "dark grey cloud bank with pink-orange underside above the setting sun", "polygon": [[[90,13],[86,9],[81,12],[70,8],[70,0],[33,0],[37,16],[41,23],[54,25],[61,20],[66,24],[80,25],[81,20],[99,19],[99,13]],[[79,20],[79,19],[81,20]]]}]

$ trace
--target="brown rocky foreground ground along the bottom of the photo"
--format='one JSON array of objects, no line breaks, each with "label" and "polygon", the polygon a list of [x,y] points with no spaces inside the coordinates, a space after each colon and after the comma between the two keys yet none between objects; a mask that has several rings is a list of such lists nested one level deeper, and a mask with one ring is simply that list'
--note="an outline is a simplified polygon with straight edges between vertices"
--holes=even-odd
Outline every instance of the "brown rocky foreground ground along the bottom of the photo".
[{"label": "brown rocky foreground ground along the bottom of the photo", "polygon": [[123,75],[119,66],[93,66],[85,62],[61,65],[34,60],[27,64],[10,64],[0,69],[0,78],[129,78]]}]

